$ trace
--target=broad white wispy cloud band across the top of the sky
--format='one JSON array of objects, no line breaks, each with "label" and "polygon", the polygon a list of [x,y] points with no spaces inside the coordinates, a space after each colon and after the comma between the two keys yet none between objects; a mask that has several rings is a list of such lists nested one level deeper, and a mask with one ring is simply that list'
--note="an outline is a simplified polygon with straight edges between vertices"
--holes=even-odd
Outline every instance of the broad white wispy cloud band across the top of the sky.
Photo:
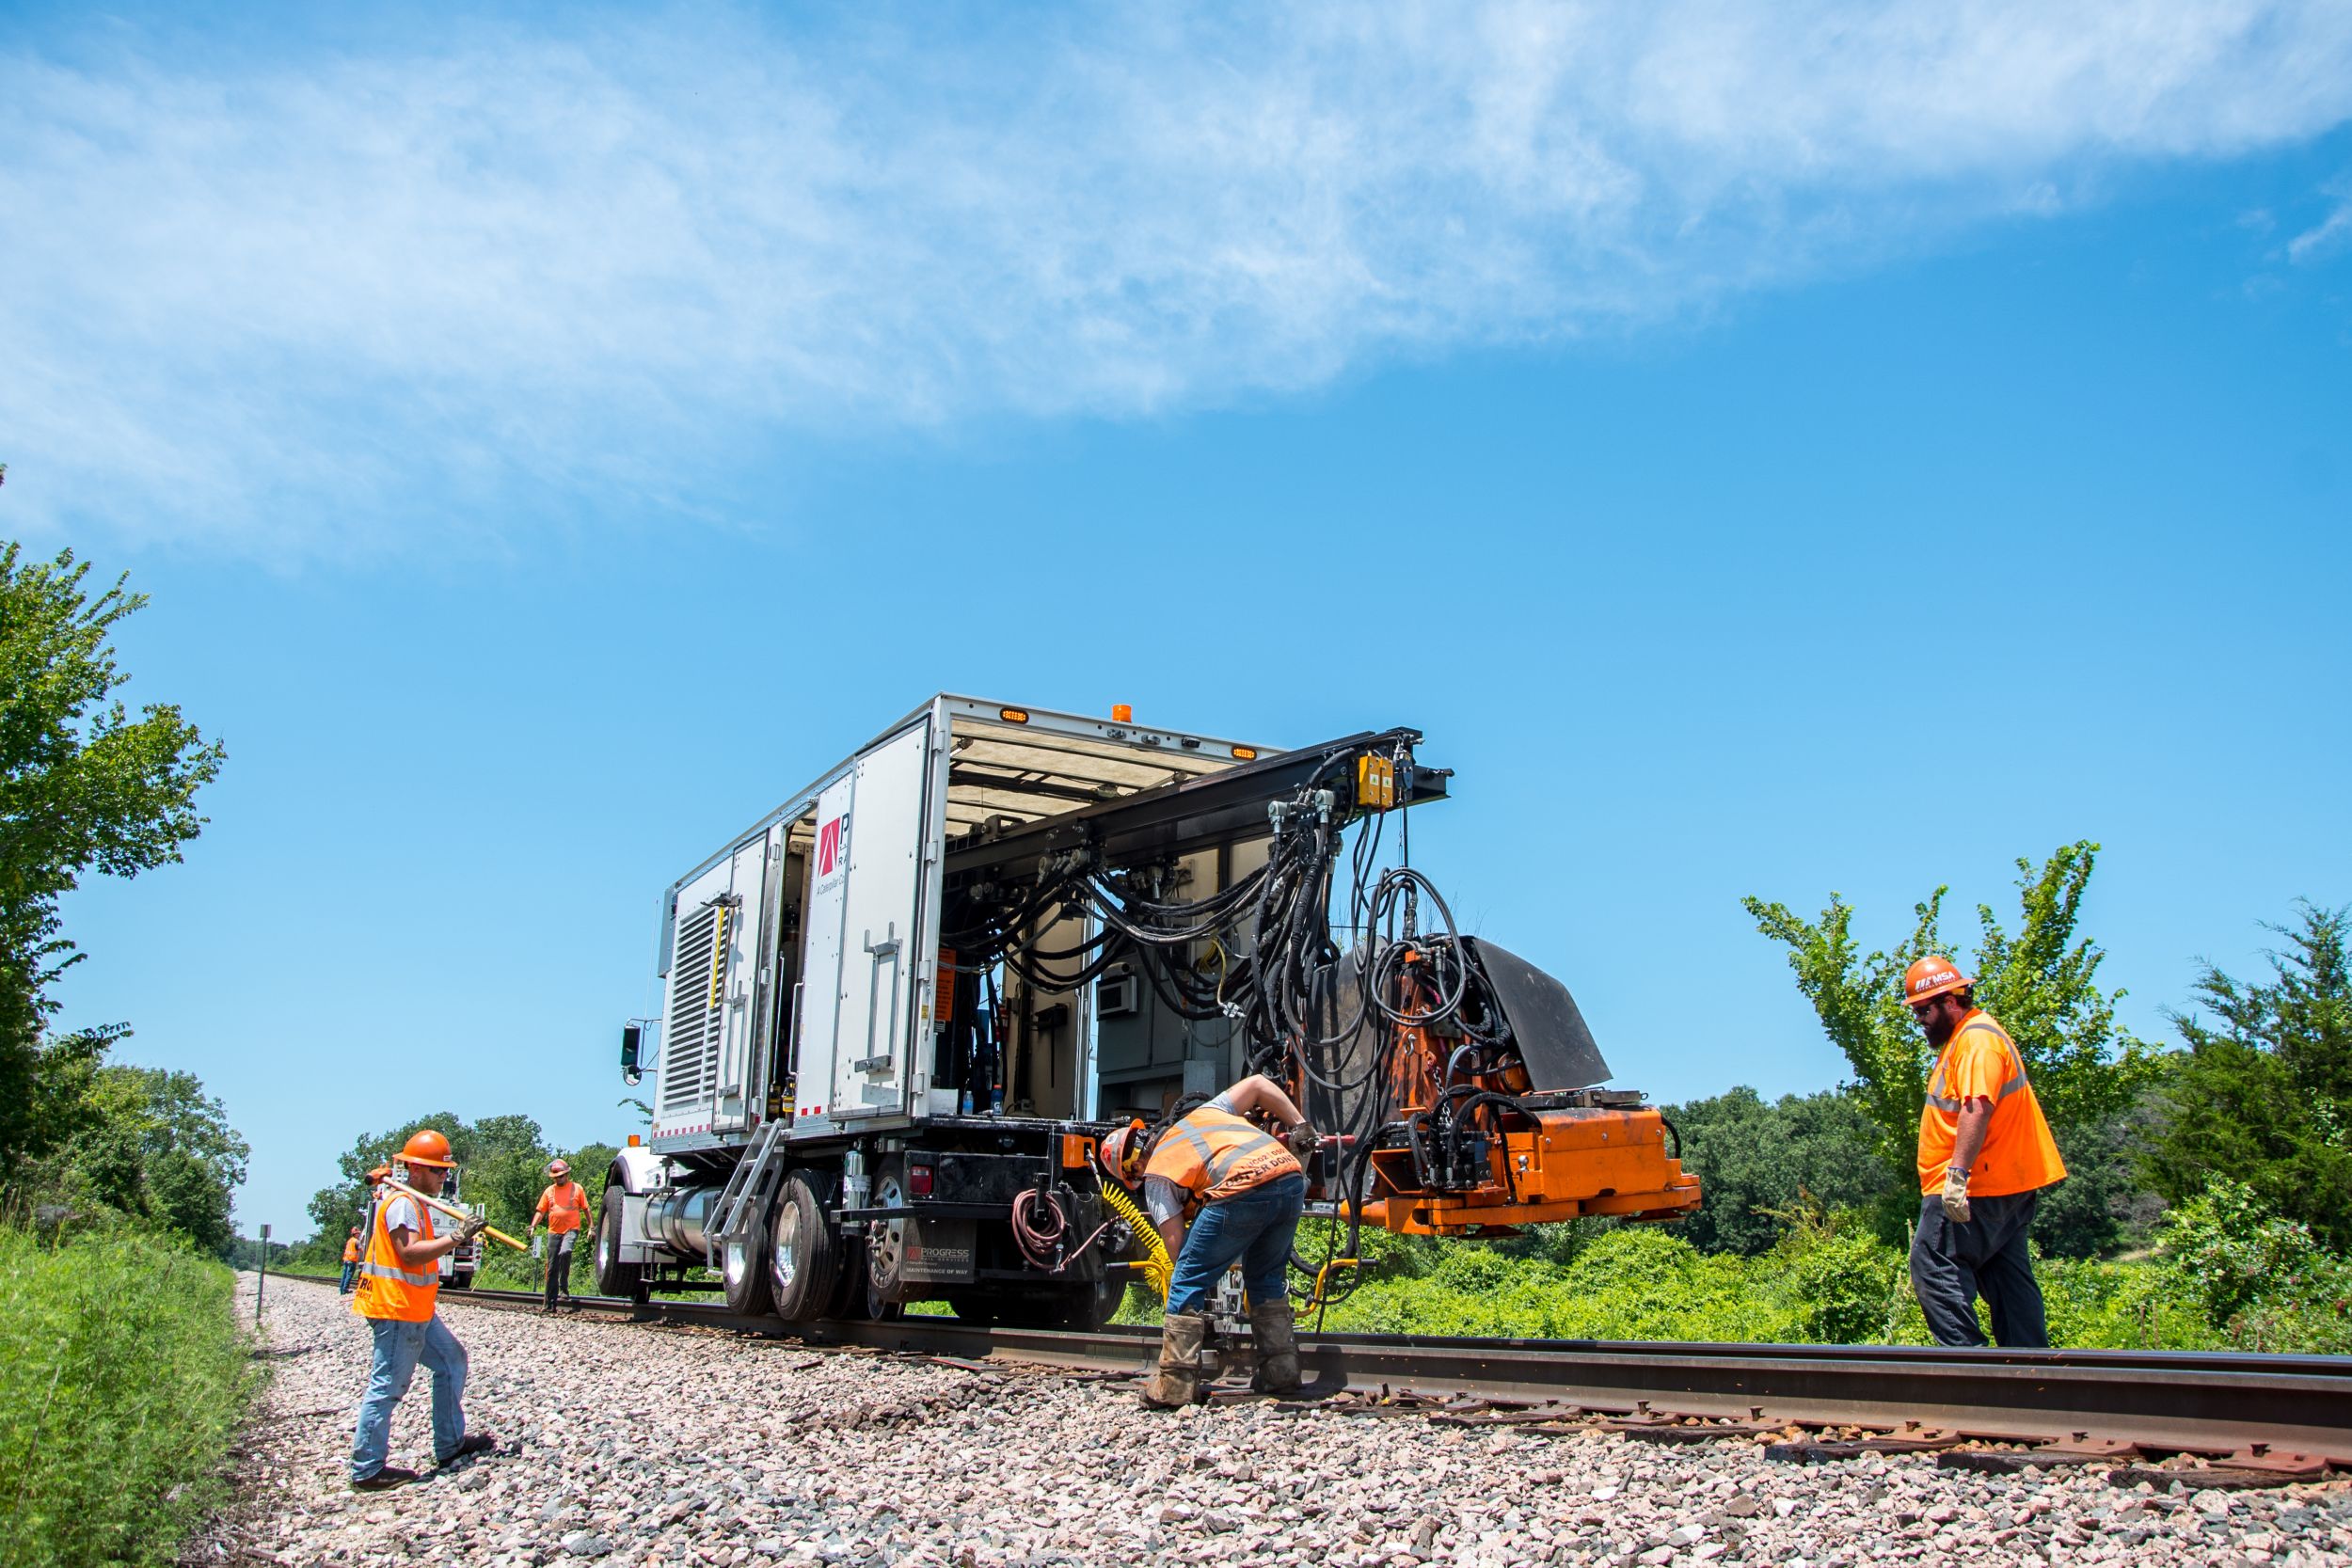
[{"label": "broad white wispy cloud band across the top of the sky", "polygon": [[308,552],[419,496],[691,510],[781,435],[1639,324],[2352,115],[2352,9],[2284,0],[927,19],[0,54],[19,517]]}]

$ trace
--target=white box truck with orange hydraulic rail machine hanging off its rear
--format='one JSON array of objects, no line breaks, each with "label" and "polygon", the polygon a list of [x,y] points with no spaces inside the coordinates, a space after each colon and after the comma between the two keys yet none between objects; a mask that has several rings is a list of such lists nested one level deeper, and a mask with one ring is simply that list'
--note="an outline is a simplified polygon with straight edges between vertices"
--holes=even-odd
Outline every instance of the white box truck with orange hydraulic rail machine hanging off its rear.
[{"label": "white box truck with orange hydraulic rail machine hanging off its rear", "polygon": [[[1359,1220],[1696,1204],[1656,1112],[1592,1088],[1566,987],[1418,933],[1418,877],[1367,882],[1378,818],[1446,795],[1418,741],[1277,750],[962,696],[884,729],[663,891],[661,1016],[621,1041],[652,1131],[604,1187],[600,1288],[710,1269],[734,1309],[795,1321],[946,1298],[1094,1326],[1134,1265],[1098,1138],[1249,1070],[1348,1133],[1319,1175]],[[1367,900],[1390,933],[1341,954],[1327,905]],[[1312,1023],[1341,992],[1355,1023]]]}]

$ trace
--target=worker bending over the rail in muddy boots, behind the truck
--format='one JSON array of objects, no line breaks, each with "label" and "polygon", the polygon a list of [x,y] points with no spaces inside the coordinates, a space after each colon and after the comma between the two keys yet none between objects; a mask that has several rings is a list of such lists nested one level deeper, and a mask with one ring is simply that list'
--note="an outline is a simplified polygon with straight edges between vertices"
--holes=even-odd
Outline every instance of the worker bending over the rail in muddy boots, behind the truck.
[{"label": "worker bending over the rail in muddy boots, behind the truck", "polygon": [[[1282,1135],[1251,1117],[1270,1121]],[[1298,1389],[1298,1324],[1284,1269],[1308,1197],[1301,1159],[1315,1145],[1315,1128],[1298,1105],[1261,1074],[1157,1135],[1131,1121],[1103,1140],[1103,1168],[1124,1187],[1141,1182],[1143,1208],[1176,1258],[1160,1331],[1160,1371],[1143,1385],[1145,1406],[1174,1410],[1207,1401],[1200,1352],[1209,1340],[1209,1291],[1235,1262],[1242,1265],[1258,1361],[1249,1387],[1261,1394]]]}]

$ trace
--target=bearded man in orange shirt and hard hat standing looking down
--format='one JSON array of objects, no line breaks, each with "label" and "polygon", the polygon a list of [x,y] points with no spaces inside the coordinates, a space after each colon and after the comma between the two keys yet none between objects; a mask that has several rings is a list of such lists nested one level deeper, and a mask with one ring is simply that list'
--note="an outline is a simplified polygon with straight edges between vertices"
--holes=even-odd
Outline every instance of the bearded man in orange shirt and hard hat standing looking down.
[{"label": "bearded man in orange shirt and hard hat standing looking down", "polygon": [[1976,980],[1943,954],[1905,971],[1903,1001],[1938,1051],[1919,1110],[1922,1199],[1910,1255],[1929,1333],[1938,1345],[1983,1345],[1983,1295],[2002,1347],[2049,1345],[2025,1237],[2034,1201],[2065,1180],[2065,1164],[2025,1081],[2025,1058],[1976,1006]]}]

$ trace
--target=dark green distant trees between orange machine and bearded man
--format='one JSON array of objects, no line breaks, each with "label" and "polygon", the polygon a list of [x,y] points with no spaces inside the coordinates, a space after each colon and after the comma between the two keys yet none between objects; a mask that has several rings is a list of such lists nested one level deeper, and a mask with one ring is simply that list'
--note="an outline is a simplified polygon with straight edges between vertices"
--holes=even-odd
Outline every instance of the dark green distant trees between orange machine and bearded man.
[{"label": "dark green distant trees between orange machine and bearded man", "polygon": [[1682,1220],[1684,1241],[1703,1253],[1762,1253],[1785,1225],[1780,1215],[1809,1199],[1828,1208],[1879,1211],[1903,1199],[1877,1154],[1877,1128],[1863,1103],[1842,1088],[1766,1100],[1745,1084],[1665,1119],[1682,1143],[1682,1168],[1698,1175],[1698,1213]]}]

